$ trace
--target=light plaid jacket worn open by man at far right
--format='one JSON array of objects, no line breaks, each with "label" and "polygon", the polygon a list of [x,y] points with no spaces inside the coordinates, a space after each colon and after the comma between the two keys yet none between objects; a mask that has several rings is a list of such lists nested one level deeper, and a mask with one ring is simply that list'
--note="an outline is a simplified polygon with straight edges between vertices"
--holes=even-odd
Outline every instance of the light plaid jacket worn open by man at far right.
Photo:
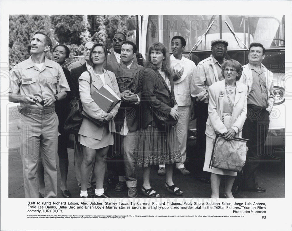
[{"label": "light plaid jacket worn open by man at far right", "polygon": [[[269,71],[263,64],[261,64],[263,67],[263,71],[265,73],[266,77],[266,88],[267,88],[267,99],[268,99],[268,107],[267,111],[271,113],[274,102],[275,102],[275,95],[274,95],[274,85],[273,85],[273,73]],[[242,66],[242,76],[239,80],[239,82],[244,83],[247,85],[247,97],[249,96],[249,93],[251,93],[251,89],[253,86],[253,74],[251,72],[251,69],[248,68],[248,64]]]}]

